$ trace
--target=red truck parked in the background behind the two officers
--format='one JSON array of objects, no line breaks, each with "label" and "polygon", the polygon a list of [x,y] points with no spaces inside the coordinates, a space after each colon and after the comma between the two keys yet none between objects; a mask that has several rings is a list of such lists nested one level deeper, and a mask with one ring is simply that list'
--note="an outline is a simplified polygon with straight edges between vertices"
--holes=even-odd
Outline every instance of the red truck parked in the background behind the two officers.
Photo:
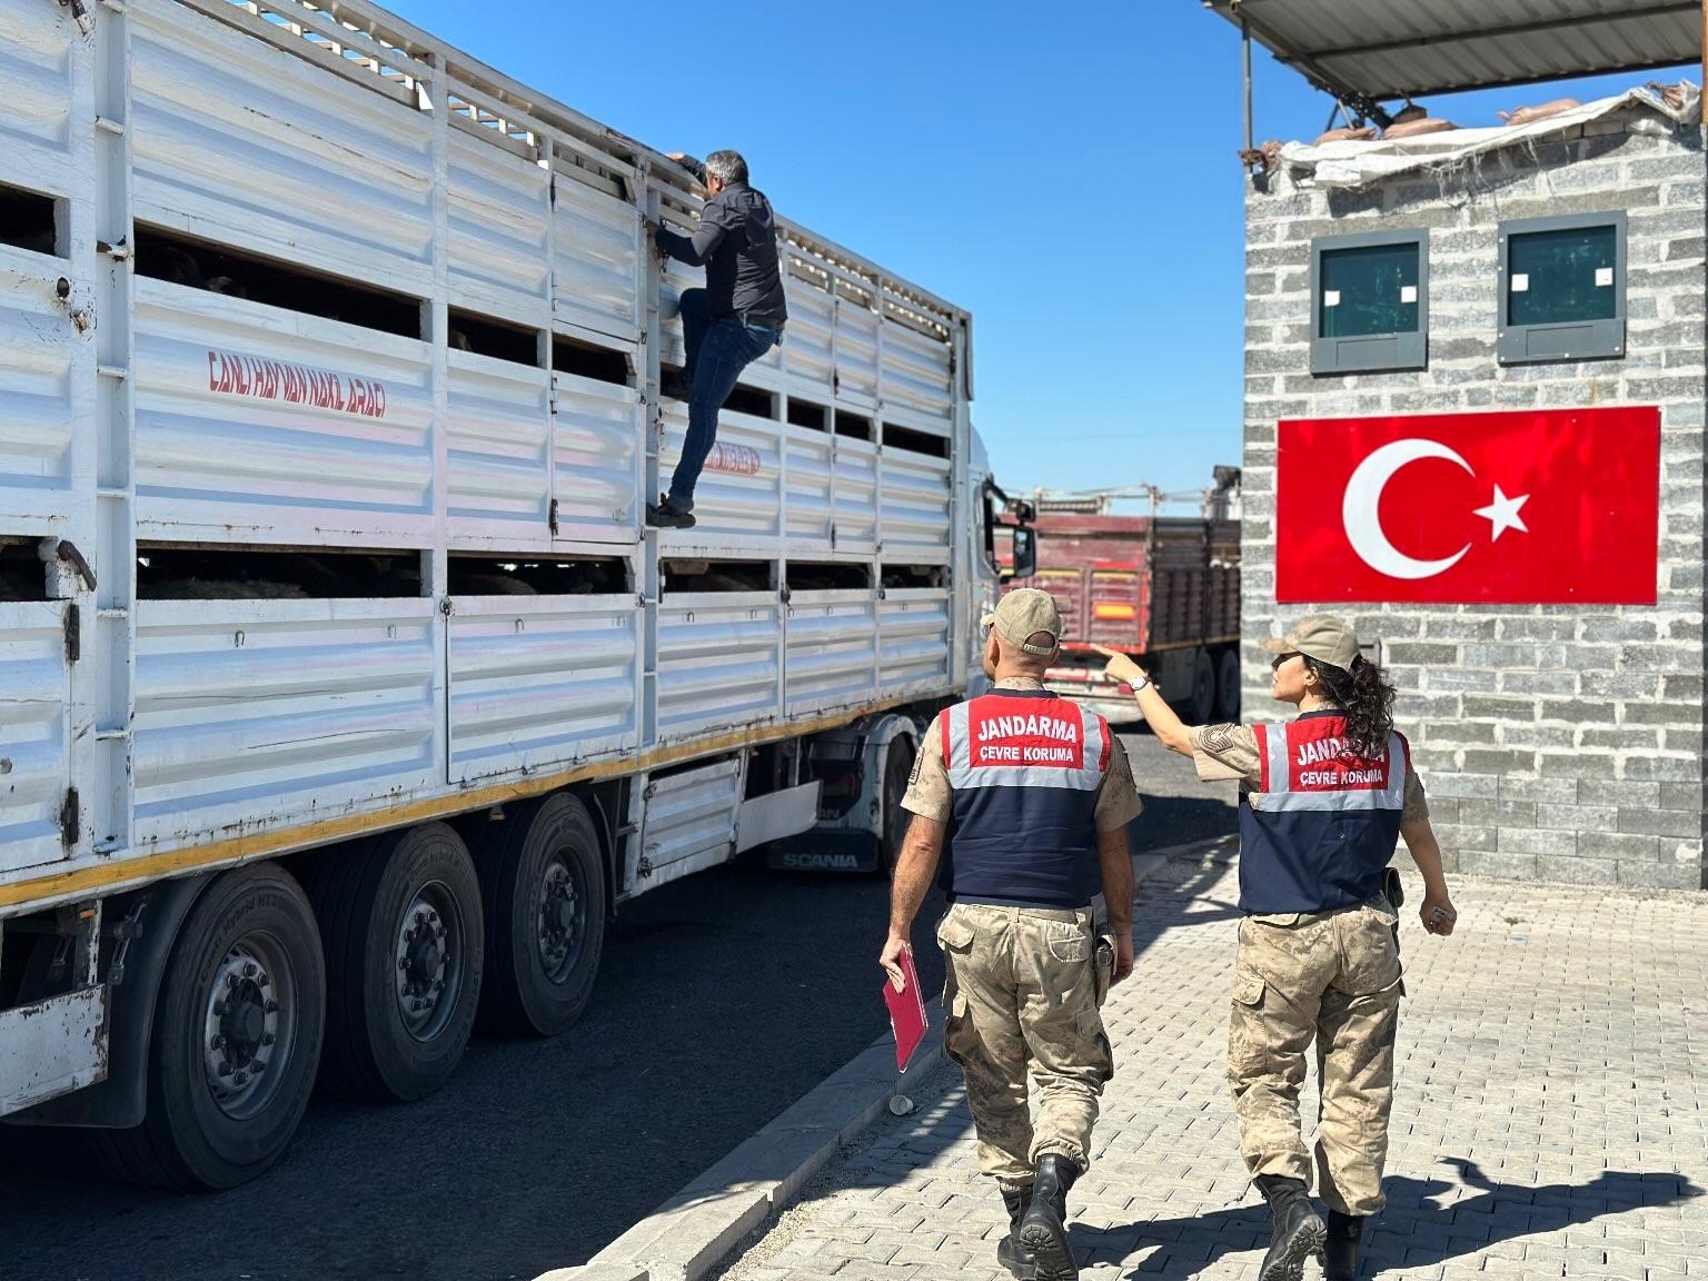
[{"label": "red truck parked in the background behind the two officers", "polygon": [[1066,622],[1049,685],[1110,721],[1136,721],[1126,685],[1103,676],[1091,646],[1138,659],[1192,724],[1240,714],[1238,468],[1216,468],[1204,516],[1122,516],[1108,495],[1040,495],[1038,569],[1015,588],[1042,588]]}]

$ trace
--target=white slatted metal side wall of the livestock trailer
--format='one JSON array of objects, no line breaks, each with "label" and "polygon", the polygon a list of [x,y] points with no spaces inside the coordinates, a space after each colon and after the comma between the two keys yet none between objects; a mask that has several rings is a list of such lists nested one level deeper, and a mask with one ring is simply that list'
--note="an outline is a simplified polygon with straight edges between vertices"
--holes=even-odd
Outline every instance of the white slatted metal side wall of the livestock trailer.
[{"label": "white slatted metal side wall of the livestock trailer", "polygon": [[[96,649],[128,675],[36,716],[77,673],[41,640],[65,606],[20,606],[0,673],[41,774],[7,861],[159,856],[951,692],[962,313],[784,225],[786,342],[722,415],[699,526],[649,540],[687,429],[658,376],[700,284],[644,236],[649,214],[692,225],[676,166],[360,3],[137,0],[96,22],[0,0],[0,56],[31,89],[0,125],[0,186],[55,210],[39,244],[0,244],[0,540],[82,552],[113,584]],[[123,181],[97,183],[97,149]],[[99,261],[97,207],[120,246]],[[111,359],[87,319],[102,289]],[[239,591],[198,569],[205,600],[130,598],[130,547],[253,567]],[[376,581],[366,613],[248,582],[290,555],[381,564],[355,553],[422,572]],[[490,572],[453,589],[458,557]],[[548,562],[601,565],[617,593],[528,588]],[[762,600],[673,591],[724,562],[767,565]],[[791,601],[791,562],[864,586]],[[892,598],[895,570],[938,586]],[[707,666],[692,637],[726,622],[762,627],[770,658]],[[89,832],[26,837],[77,772],[77,705],[109,760]]]}]

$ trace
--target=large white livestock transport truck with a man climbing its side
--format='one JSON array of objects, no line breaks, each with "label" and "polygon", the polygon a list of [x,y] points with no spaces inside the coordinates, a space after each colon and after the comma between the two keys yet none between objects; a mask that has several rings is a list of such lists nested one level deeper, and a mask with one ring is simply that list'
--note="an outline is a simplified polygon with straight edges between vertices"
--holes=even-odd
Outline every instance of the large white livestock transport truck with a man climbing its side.
[{"label": "large white livestock transport truck with a man climbing its side", "polygon": [[782,224],[649,531],[680,167],[364,3],[0,0],[0,1115],[229,1187],[567,1028],[625,898],[893,854],[999,591],[967,313]]}]

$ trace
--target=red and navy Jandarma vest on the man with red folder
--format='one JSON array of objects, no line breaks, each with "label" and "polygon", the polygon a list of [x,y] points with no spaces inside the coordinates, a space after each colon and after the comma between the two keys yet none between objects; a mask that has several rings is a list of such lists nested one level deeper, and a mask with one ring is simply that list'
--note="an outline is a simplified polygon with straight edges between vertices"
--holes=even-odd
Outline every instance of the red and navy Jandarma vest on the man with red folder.
[{"label": "red and navy Jandarma vest on the man with red folder", "polygon": [[1047,690],[994,690],[941,726],[953,813],[938,883],[950,902],[1088,905],[1108,722]]}]

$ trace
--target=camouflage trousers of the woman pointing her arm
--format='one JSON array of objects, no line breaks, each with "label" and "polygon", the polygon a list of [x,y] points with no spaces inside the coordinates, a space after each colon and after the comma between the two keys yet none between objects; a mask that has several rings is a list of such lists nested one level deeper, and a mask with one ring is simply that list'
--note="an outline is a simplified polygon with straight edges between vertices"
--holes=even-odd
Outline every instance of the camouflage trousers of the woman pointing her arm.
[{"label": "camouflage trousers of the woman pointing her arm", "polygon": [[1395,914],[1372,900],[1320,914],[1249,915],[1228,1020],[1228,1083],[1252,1175],[1310,1184],[1298,1090],[1317,1042],[1317,1192],[1342,1214],[1385,1204],[1394,1033],[1404,994]]}]

